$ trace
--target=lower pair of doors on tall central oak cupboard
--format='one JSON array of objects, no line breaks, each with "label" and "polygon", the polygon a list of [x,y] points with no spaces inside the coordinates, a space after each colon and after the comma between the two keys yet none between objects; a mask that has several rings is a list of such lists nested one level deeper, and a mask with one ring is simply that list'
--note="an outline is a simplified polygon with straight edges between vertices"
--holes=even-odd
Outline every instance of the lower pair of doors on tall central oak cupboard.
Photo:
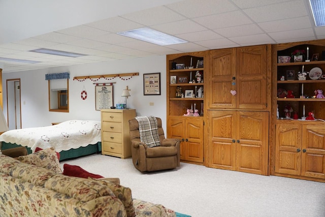
[{"label": "lower pair of doors on tall central oak cupboard", "polygon": [[269,112],[209,110],[209,162],[217,169],[268,175]]}]

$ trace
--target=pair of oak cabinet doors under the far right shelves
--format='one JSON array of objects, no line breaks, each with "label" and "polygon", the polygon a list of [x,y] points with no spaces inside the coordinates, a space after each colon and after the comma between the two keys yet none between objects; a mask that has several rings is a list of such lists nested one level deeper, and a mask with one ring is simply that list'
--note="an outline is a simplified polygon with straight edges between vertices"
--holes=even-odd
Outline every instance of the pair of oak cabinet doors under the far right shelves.
[{"label": "pair of oak cabinet doors under the far right shelves", "polygon": [[325,182],[325,126],[322,121],[278,120],[275,173]]}]

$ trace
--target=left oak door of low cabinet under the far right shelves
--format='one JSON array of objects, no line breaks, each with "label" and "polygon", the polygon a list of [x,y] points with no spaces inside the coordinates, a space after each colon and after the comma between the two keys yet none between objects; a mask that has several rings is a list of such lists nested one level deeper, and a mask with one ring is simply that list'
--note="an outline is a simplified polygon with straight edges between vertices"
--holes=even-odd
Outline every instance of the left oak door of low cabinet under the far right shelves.
[{"label": "left oak door of low cabinet under the far right shelves", "polygon": [[276,126],[275,172],[300,175],[301,125],[278,124]]}]

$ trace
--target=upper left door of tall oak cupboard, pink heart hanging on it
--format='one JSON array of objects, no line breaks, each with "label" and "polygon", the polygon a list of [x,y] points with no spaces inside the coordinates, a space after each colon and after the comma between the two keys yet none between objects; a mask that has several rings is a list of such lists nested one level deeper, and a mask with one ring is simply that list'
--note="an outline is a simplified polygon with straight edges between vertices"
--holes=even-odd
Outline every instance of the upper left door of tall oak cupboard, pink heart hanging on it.
[{"label": "upper left door of tall oak cupboard, pink heart hanging on it", "polygon": [[210,51],[210,70],[208,91],[205,91],[209,108],[236,108],[236,96],[231,90],[236,89],[232,85],[236,76],[236,48]]}]

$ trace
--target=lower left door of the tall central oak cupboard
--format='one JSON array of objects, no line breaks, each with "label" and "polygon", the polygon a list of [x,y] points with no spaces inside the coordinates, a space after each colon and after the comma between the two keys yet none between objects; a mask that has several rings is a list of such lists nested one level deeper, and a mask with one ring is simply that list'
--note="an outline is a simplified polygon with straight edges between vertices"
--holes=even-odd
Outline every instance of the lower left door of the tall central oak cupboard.
[{"label": "lower left door of the tall central oak cupboard", "polygon": [[209,111],[209,167],[236,169],[236,111]]}]

